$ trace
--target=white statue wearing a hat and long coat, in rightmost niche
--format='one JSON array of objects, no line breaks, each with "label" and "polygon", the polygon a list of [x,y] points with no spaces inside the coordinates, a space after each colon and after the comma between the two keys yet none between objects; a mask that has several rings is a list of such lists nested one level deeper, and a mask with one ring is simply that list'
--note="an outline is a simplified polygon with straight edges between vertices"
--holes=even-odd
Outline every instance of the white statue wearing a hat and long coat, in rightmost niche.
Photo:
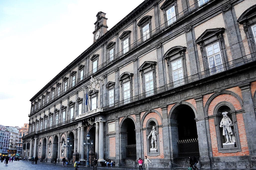
[{"label": "white statue wearing a hat and long coat, in rightmost niche", "polygon": [[223,127],[223,135],[226,137],[226,143],[235,142],[235,138],[233,136],[233,132],[231,126],[233,126],[233,122],[228,117],[228,112],[222,112],[223,118],[220,122],[220,127]]}]

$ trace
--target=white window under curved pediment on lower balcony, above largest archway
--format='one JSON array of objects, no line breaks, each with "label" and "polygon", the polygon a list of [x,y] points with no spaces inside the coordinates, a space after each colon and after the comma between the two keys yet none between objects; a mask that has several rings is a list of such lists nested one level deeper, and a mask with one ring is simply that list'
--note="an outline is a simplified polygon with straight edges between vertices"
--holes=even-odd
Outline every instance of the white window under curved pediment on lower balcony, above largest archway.
[{"label": "white window under curved pediment on lower balcony, above largest archway", "polygon": [[172,71],[173,71],[173,81],[174,86],[183,85],[183,70],[182,70],[182,61],[181,59],[172,62]]}]

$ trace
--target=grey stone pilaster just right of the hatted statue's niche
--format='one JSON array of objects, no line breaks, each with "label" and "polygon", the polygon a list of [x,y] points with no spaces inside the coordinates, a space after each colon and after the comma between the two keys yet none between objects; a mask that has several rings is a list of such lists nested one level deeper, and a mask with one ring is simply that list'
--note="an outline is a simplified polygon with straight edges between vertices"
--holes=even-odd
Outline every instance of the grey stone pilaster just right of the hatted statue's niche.
[{"label": "grey stone pilaster just right of the hatted statue's niche", "polygon": [[244,129],[246,132],[249,154],[256,155],[256,149],[255,149],[256,118],[255,118],[255,112],[253,108],[250,83],[244,84],[239,87],[241,88],[242,97],[243,97],[243,108],[244,108],[243,121],[244,121]]}]

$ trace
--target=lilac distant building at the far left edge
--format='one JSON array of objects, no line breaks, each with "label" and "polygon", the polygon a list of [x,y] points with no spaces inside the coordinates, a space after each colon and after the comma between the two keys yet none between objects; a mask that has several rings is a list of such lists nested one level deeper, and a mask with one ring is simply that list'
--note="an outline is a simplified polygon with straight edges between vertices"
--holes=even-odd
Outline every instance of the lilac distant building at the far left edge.
[{"label": "lilac distant building at the far left edge", "polygon": [[10,132],[6,130],[5,126],[0,125],[0,156],[8,155]]}]

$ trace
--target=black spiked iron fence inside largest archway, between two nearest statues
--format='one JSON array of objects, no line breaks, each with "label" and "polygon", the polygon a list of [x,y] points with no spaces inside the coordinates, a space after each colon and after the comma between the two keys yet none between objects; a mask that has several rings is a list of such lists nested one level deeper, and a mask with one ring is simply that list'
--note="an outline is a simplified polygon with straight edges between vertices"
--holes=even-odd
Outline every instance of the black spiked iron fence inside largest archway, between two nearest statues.
[{"label": "black spiked iron fence inside largest archway, between two nearest statues", "polygon": [[177,144],[179,157],[200,156],[198,139],[178,140]]}]

